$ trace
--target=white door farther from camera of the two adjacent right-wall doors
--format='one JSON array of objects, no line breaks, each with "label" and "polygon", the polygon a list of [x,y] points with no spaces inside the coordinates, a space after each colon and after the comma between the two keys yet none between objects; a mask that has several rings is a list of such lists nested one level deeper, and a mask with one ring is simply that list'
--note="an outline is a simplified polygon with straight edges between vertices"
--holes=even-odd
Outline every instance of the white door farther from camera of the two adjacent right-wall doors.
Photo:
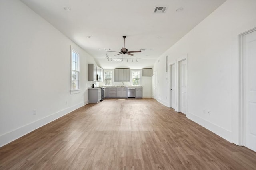
[{"label": "white door farther from camera of the two adjacent right-wall doors", "polygon": [[176,108],[175,64],[170,65],[170,107]]}]

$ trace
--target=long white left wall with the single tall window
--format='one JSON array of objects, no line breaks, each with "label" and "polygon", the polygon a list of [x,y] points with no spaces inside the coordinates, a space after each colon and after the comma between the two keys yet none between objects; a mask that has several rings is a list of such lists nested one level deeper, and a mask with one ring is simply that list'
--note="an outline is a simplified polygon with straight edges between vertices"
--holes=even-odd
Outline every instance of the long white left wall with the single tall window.
[{"label": "long white left wall with the single tall window", "polygon": [[[1,1],[0,23],[2,146],[87,104],[88,63],[95,61],[19,0]],[[70,46],[81,61],[81,92],[72,95]]]}]

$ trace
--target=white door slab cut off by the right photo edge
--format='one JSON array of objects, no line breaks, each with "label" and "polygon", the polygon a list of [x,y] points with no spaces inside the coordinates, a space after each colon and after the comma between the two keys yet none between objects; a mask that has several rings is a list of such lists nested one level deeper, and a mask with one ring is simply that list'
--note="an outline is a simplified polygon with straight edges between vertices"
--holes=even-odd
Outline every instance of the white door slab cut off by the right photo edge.
[{"label": "white door slab cut off by the right photo edge", "polygon": [[256,151],[256,31],[244,36],[245,146]]}]

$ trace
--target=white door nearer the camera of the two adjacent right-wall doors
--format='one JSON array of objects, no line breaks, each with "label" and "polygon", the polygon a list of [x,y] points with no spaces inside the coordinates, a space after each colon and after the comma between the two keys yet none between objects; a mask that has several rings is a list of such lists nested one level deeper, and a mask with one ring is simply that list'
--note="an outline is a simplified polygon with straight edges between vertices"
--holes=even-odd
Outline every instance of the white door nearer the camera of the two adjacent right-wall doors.
[{"label": "white door nearer the camera of the two adjacent right-wall doors", "polygon": [[187,89],[187,81],[186,81],[186,60],[180,61],[180,112],[186,114],[186,89]]}]

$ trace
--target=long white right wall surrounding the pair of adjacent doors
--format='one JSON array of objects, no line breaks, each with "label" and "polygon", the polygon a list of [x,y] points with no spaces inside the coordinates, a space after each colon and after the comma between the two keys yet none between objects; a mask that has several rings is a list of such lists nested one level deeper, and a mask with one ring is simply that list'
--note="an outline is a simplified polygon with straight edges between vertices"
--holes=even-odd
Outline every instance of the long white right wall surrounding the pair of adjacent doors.
[{"label": "long white right wall surrounding the pair of adjacent doors", "polygon": [[237,143],[238,35],[254,27],[256,1],[227,0],[154,64],[160,102],[169,104],[164,57],[172,62],[188,54],[187,117]]}]

